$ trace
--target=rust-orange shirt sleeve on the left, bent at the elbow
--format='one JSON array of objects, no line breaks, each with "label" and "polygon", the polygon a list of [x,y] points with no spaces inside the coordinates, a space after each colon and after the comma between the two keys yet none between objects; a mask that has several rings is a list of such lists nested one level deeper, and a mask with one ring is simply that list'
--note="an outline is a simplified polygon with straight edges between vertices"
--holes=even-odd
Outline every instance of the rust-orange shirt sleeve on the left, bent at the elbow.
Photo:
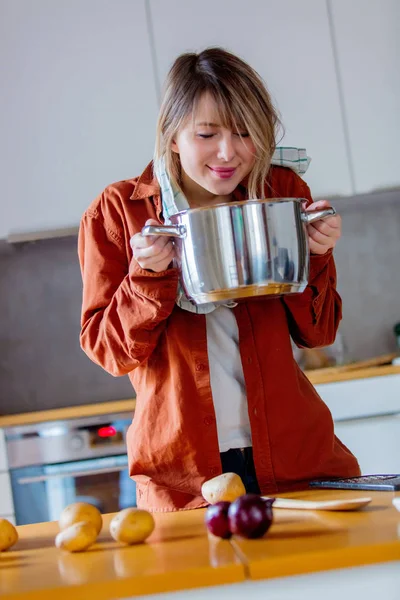
[{"label": "rust-orange shirt sleeve on the left, bent at the elbow", "polygon": [[78,255],[82,349],[112,375],[126,375],[156,347],[175,306],[178,271],[141,269],[115,228],[90,211],[81,221]]}]

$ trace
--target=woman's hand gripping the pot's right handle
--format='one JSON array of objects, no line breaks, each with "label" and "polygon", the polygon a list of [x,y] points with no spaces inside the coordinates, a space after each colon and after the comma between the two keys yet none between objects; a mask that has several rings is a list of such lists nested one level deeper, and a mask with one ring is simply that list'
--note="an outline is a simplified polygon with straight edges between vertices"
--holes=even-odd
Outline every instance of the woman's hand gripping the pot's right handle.
[{"label": "woman's hand gripping the pot's right handle", "polygon": [[[306,207],[309,210],[324,210],[330,208],[327,200],[313,202]],[[334,215],[321,221],[315,221],[307,225],[308,244],[311,254],[326,254],[328,250],[336,246],[336,242],[342,235],[342,219],[340,215]]]}]

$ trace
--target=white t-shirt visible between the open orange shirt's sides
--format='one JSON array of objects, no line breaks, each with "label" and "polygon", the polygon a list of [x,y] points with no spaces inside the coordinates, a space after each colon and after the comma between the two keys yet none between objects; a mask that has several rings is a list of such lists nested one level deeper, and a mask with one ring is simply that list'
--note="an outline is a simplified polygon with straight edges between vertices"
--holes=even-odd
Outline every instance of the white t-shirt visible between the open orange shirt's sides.
[{"label": "white t-shirt visible between the open orange shirt's sides", "polygon": [[206,315],[211,391],[220,452],[252,445],[239,330],[230,308]]}]

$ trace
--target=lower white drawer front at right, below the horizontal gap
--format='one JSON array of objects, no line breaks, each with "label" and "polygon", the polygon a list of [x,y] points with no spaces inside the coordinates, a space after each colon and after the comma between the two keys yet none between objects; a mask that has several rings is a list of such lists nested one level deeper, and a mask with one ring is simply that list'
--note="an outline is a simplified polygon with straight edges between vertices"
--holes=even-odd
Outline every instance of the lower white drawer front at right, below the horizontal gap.
[{"label": "lower white drawer front at right, below the horizontal gap", "polygon": [[400,473],[400,413],[339,421],[335,433],[357,457],[363,475]]}]

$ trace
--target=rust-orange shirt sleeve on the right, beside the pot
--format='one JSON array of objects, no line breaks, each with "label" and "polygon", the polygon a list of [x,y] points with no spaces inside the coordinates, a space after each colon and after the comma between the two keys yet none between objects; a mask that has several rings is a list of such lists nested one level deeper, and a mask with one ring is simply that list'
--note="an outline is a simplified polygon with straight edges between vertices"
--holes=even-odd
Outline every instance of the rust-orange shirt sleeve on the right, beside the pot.
[{"label": "rust-orange shirt sleeve on the right, beside the pot", "polygon": [[[312,202],[307,184],[297,178],[294,197]],[[336,267],[332,250],[310,255],[308,285],[302,294],[284,296],[290,334],[295,344],[315,348],[333,344],[342,318],[342,301],[336,290]]]}]

